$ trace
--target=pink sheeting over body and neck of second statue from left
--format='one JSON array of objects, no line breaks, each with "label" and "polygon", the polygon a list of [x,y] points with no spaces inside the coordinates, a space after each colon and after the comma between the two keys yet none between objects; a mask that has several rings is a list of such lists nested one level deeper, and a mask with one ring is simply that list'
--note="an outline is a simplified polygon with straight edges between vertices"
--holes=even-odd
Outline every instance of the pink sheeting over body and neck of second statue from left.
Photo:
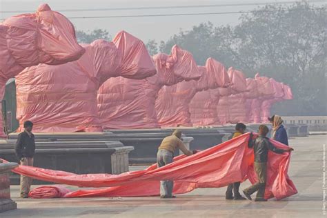
[{"label": "pink sheeting over body and neck of second statue from left", "polygon": [[77,61],[60,66],[39,64],[17,75],[19,131],[26,120],[34,123],[34,132],[102,131],[97,90],[108,78],[124,76],[121,52],[104,40],[82,46],[86,52]]}]

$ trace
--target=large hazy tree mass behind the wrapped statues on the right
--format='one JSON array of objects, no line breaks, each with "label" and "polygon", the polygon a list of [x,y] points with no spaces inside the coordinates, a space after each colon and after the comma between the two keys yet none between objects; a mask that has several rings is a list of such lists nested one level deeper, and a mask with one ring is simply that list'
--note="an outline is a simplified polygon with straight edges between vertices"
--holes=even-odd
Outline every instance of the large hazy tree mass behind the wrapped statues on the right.
[{"label": "large hazy tree mass behind the wrapped statues on the right", "polygon": [[279,115],[327,115],[326,28],[326,8],[268,5],[243,14],[235,27],[201,23],[159,48],[168,52],[177,44],[192,52],[199,65],[213,57],[248,77],[260,72],[288,83],[294,99],[273,108]]}]

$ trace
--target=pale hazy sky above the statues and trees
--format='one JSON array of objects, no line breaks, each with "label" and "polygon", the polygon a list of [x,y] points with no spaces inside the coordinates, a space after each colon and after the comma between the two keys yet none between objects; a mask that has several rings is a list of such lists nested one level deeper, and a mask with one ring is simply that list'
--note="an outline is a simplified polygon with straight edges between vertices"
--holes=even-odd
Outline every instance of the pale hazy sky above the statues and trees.
[{"label": "pale hazy sky above the statues and trees", "polygon": [[[69,9],[97,9],[97,8],[127,8],[127,7],[164,7],[164,6],[195,6],[212,5],[226,3],[271,3],[281,0],[0,0],[0,19],[10,17],[17,12],[7,13],[3,11],[30,11],[36,10],[41,3],[48,3],[52,10]],[[284,0],[287,1],[287,0]],[[290,0],[291,1],[291,0]],[[293,0],[294,1],[294,0]],[[315,5],[326,5],[326,1],[315,2]],[[94,17],[94,16],[121,16],[133,14],[181,14],[181,13],[207,13],[207,12],[239,12],[248,11],[257,6],[220,6],[208,8],[161,8],[150,10],[108,10],[108,11],[88,11],[88,12],[61,12],[67,17]],[[215,26],[238,22],[240,14],[206,14],[178,17],[122,17],[122,18],[102,18],[102,19],[70,19],[78,30],[93,30],[103,28],[110,32],[112,37],[120,30],[126,30],[134,34],[143,41],[156,39],[157,41],[169,39],[173,34],[182,30],[189,30],[202,22],[210,21]]]}]

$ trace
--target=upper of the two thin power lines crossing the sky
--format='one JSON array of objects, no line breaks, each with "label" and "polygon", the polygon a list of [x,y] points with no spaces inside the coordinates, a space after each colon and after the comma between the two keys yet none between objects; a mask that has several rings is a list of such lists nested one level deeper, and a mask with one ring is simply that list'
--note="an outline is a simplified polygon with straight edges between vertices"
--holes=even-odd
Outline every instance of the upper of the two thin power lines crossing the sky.
[{"label": "upper of the two thin power lines crossing the sky", "polygon": [[[258,3],[225,3],[225,4],[212,4],[212,5],[195,5],[195,6],[156,6],[156,7],[130,7],[130,8],[81,8],[81,9],[62,9],[59,12],[88,12],[88,11],[108,11],[108,10],[151,10],[151,9],[173,9],[173,8],[216,8],[216,7],[230,7],[230,6],[261,6],[269,4],[291,4],[303,3],[304,1],[272,1],[272,2],[258,2]],[[321,3],[326,0],[313,0],[305,1],[307,3]],[[26,13],[33,12],[27,10],[3,10],[0,13]]]}]

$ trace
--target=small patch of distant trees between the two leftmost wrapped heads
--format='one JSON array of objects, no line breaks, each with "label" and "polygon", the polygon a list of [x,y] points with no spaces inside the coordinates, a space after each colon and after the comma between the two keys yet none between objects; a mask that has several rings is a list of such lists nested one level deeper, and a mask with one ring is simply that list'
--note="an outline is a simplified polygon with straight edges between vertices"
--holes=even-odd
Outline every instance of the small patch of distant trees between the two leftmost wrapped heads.
[{"label": "small patch of distant trees between the two leftmost wrapped heads", "polygon": [[88,30],[87,32],[77,30],[76,37],[79,43],[92,43],[92,41],[97,39],[111,40],[109,32],[102,29]]}]

